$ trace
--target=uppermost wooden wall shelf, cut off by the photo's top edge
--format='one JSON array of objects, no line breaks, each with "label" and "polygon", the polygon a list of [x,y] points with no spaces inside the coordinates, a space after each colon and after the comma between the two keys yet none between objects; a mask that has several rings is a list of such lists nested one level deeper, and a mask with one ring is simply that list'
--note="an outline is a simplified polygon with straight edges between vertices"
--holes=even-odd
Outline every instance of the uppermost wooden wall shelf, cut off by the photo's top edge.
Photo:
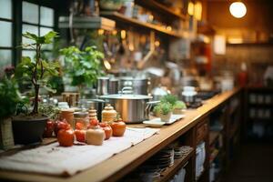
[{"label": "uppermost wooden wall shelf, cut off by the photo's top edge", "polygon": [[176,12],[171,7],[167,7],[166,5],[162,5],[160,3],[157,3],[155,0],[135,0],[137,5],[141,5],[143,7],[146,7],[147,9],[160,12],[165,15],[171,15],[172,17],[179,18],[182,20],[187,19],[187,15],[180,14]]}]

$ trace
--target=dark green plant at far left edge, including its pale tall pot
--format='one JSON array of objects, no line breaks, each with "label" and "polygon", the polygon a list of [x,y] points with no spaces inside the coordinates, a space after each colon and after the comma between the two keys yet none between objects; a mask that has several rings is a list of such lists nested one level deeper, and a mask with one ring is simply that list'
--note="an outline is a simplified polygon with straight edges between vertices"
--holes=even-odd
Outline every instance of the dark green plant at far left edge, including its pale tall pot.
[{"label": "dark green plant at far left edge, including its pale tall pot", "polygon": [[[11,116],[15,114],[16,105],[21,100],[18,85],[11,75],[14,67],[5,68],[5,76],[0,80],[0,148],[9,149],[14,146]],[[11,75],[10,75],[11,74]]]}]

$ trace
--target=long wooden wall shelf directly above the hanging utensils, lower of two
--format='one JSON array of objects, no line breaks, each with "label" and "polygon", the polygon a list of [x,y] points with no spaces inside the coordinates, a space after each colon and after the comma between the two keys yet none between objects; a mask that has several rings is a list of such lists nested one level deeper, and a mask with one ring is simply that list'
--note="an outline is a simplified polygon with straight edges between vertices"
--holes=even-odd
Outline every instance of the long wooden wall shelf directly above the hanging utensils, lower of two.
[{"label": "long wooden wall shelf directly above the hanging utensils, lower of two", "polygon": [[127,17],[126,15],[122,15],[122,14],[117,13],[117,12],[102,11],[102,12],[100,12],[100,15],[106,16],[109,19],[115,20],[117,24],[118,23],[124,23],[124,24],[128,24],[128,25],[144,27],[144,28],[147,28],[149,30],[155,30],[158,33],[165,34],[165,35],[171,35],[171,36],[175,36],[175,37],[178,37],[178,38],[185,37],[185,35],[178,34],[175,31],[169,31],[169,30],[167,30],[165,27],[163,27],[161,25],[154,25],[154,24],[150,24],[150,23],[141,22],[141,21],[139,21],[139,20],[137,20],[135,18],[130,18],[130,17]]}]

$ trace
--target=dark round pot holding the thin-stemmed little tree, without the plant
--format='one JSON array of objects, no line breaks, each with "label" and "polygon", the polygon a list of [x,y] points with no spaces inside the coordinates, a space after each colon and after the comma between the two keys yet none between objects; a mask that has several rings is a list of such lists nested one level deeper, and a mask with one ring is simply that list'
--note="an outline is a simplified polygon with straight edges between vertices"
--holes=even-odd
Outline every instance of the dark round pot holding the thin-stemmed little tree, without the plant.
[{"label": "dark round pot holding the thin-stemmed little tree, without the plant", "polygon": [[47,116],[33,118],[30,116],[15,116],[12,118],[15,144],[33,144],[43,141]]}]

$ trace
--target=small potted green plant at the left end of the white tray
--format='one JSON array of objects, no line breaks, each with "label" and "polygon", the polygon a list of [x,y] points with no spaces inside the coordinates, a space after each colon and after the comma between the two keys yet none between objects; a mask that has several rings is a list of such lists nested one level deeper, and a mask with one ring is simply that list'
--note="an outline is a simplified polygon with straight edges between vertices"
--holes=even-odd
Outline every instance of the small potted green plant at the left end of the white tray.
[{"label": "small potted green plant at the left end of the white tray", "polygon": [[158,116],[161,118],[162,122],[168,122],[172,114],[172,106],[167,102],[160,103],[159,105],[155,106],[154,112],[155,111],[158,113]]}]

